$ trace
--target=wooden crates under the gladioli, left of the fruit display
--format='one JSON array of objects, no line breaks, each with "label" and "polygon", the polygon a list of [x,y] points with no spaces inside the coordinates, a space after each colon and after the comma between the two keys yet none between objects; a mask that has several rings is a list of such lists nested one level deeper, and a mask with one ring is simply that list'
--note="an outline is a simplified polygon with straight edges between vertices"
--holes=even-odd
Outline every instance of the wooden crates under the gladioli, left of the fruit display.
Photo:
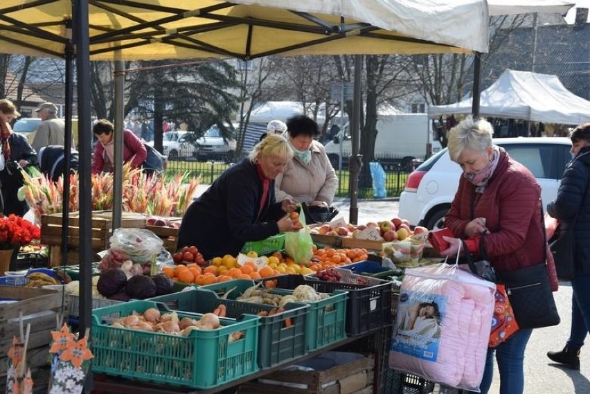
[{"label": "wooden crates under the gladioli, left of the fruit display", "polygon": [[[145,215],[124,212],[121,215],[121,227],[145,227]],[[62,265],[62,214],[54,213],[41,217],[41,243],[49,245],[48,265]],[[91,245],[94,253],[109,249],[109,240],[113,235],[112,211],[93,211],[91,220]],[[80,254],[80,214],[70,213],[68,222],[68,264],[79,264]],[[98,257],[96,260],[100,260]]]}]

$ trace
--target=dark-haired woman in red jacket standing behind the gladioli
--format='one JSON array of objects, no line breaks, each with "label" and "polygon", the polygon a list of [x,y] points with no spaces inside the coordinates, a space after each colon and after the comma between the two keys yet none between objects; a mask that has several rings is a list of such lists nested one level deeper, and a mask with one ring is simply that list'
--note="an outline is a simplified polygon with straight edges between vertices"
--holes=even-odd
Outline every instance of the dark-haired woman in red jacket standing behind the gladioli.
[{"label": "dark-haired woman in red jacket standing behind the gladioli", "polygon": [[[92,173],[114,170],[114,132],[115,127],[106,119],[99,119],[92,127],[98,139],[92,158]],[[131,163],[131,168],[140,168],[147,157],[143,142],[131,130],[123,129],[123,163]]]}]

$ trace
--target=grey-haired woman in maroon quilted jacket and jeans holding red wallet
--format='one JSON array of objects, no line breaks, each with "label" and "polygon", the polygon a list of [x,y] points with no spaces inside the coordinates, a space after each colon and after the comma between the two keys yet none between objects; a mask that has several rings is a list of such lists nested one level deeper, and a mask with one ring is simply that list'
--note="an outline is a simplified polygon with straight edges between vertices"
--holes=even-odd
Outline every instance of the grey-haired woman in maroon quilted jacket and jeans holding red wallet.
[{"label": "grey-haired woman in maroon quilted jacket and jeans holding red wallet", "polygon": [[[497,272],[529,267],[545,261],[541,187],[531,172],[492,144],[493,128],[486,120],[461,121],[449,132],[449,155],[461,165],[463,177],[445,217],[456,238],[445,256],[456,256],[460,240],[478,253],[485,234],[485,250]],[[500,394],[524,391],[524,350],[532,330],[519,330],[497,348],[488,350],[481,393],[492,384],[494,352],[500,373]]]}]

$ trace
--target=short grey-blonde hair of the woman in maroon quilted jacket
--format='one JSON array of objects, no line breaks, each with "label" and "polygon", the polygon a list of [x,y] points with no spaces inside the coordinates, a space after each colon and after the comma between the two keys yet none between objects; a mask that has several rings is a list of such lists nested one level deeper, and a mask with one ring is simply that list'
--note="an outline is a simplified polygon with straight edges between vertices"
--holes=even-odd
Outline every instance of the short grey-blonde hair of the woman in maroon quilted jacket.
[{"label": "short grey-blonde hair of the woman in maroon quilted jacket", "polygon": [[451,160],[457,161],[465,149],[476,152],[485,151],[492,146],[492,134],[494,134],[494,128],[488,120],[473,120],[472,116],[467,116],[449,131],[447,147]]}]

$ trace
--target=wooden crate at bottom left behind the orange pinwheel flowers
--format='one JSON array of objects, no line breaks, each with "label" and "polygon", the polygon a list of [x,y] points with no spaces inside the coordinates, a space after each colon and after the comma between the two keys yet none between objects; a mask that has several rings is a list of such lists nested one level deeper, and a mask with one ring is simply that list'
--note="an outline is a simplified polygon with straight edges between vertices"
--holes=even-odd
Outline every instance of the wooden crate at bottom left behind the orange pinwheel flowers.
[{"label": "wooden crate at bottom left behind the orange pinwheel flowers", "polygon": [[[67,321],[68,298],[62,298],[62,292],[55,290],[17,286],[0,286],[0,298],[19,300],[0,304],[0,365],[7,365],[12,339],[20,335],[21,314],[25,331],[30,323],[27,363],[31,368],[46,365],[51,331],[57,328],[56,316],[62,312],[62,303],[64,321]],[[0,376],[3,375],[6,375],[6,368],[0,369]]]}]

